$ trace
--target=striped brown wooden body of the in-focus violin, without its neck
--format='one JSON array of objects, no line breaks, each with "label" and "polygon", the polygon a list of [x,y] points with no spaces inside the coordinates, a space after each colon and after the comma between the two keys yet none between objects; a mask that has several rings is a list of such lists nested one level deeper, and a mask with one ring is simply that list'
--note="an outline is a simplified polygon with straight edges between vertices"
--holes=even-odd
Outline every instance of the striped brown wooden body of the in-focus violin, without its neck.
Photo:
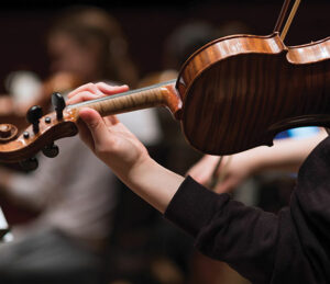
[{"label": "striped brown wooden body of the in-focus violin, without its neck", "polygon": [[273,144],[298,126],[330,127],[330,38],[286,47],[277,33],[235,35],[197,50],[177,81],[182,125],[202,152]]}]

